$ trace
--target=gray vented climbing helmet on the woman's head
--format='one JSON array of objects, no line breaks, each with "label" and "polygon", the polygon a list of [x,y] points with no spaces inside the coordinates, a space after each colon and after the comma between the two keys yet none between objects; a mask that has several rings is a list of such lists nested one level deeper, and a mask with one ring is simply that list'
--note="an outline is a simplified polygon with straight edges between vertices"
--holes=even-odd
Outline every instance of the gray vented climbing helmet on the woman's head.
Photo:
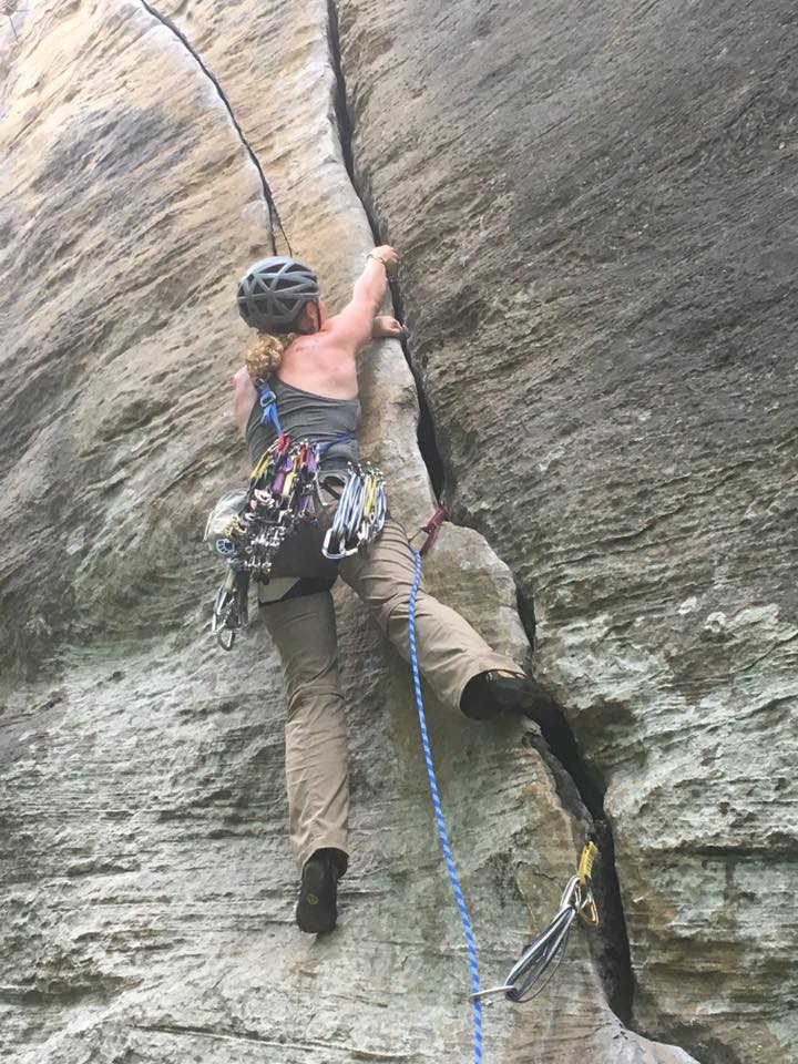
[{"label": "gray vented climbing helmet on the woman's head", "polygon": [[298,258],[262,258],[238,282],[238,313],[262,332],[293,332],[301,308],[320,291],[318,277]]}]

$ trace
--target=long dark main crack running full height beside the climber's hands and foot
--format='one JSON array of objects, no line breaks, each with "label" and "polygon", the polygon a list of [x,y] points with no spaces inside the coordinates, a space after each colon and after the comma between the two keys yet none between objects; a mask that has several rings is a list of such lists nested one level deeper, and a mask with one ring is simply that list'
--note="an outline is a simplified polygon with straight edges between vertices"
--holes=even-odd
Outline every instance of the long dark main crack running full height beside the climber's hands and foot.
[{"label": "long dark main crack running full height beside the climber's hands and foot", "polygon": [[[361,186],[356,176],[352,152],[354,130],[349,109],[347,106],[346,80],[341,65],[340,39],[338,30],[338,10],[335,0],[327,0],[328,38],[332,68],[336,75],[335,113],[338,125],[338,136],[341,144],[344,163],[349,174],[352,188],[362,204],[366,216],[371,226],[377,244],[388,243],[381,234],[379,219],[376,217],[374,203],[368,190]],[[405,319],[405,308],[401,291],[396,280],[391,282],[391,296],[397,317]],[[419,399],[418,442],[421,457],[427,466],[432,488],[438,498],[446,488],[446,472],[441,454],[436,442],[434,423],[424,396],[423,382],[419,371],[409,357],[407,340],[402,340],[405,357],[413,375]],[[524,631],[534,645],[534,604],[522,593],[518,592],[519,615]],[[594,956],[601,974],[607,1003],[622,1023],[628,1026],[632,1019],[634,994],[634,978],[632,974],[632,959],[630,954],[626,920],[617,872],[615,869],[615,849],[612,829],[604,815],[604,784],[589,770],[580,755],[571,726],[560,710],[556,733],[543,740],[536,735],[528,737],[529,745],[533,746],[552,769],[557,794],[563,806],[575,815],[577,820],[584,819],[584,809],[594,821],[603,826],[601,838],[601,863],[597,871],[596,894],[602,910],[602,923],[594,949]]]}]

